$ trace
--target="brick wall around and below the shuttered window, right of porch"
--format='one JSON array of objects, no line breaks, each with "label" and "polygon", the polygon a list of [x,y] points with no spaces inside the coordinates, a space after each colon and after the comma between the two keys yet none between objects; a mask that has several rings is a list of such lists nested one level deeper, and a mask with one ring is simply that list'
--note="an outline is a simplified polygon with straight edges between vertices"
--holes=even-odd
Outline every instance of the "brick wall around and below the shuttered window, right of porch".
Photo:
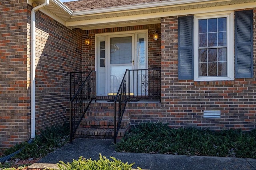
[{"label": "brick wall around and below the shuttered window, right of porch", "polygon": [[[178,16],[161,19],[163,122],[171,127],[209,129],[256,128],[256,10],[254,10],[254,78],[234,81],[178,80]],[[203,118],[220,110],[221,118]],[[163,112],[162,114],[166,114]],[[169,120],[171,117],[171,120]]]}]

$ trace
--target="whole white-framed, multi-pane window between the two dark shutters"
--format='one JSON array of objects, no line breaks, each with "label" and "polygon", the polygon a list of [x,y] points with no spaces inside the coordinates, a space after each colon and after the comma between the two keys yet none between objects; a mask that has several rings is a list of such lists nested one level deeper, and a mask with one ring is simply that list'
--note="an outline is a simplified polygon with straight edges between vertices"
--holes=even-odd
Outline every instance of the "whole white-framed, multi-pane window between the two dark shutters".
[{"label": "whole white-framed, multi-pane window between the two dark shutters", "polygon": [[233,80],[233,21],[230,14],[195,16],[194,80]]}]

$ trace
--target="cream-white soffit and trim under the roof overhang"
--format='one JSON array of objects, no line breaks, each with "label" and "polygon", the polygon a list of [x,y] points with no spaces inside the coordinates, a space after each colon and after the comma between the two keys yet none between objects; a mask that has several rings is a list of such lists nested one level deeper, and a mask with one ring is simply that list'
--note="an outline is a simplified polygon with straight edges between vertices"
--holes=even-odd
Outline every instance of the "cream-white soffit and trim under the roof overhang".
[{"label": "cream-white soffit and trim under the roof overhang", "polygon": [[[34,0],[42,4],[44,0]],[[32,0],[28,0],[32,4]],[[228,6],[228,7],[227,7]],[[170,0],[72,12],[59,0],[40,10],[70,29],[83,30],[160,23],[161,17],[256,7],[256,0]],[[204,8],[204,9],[202,9]],[[200,9],[200,10],[198,10]]]}]

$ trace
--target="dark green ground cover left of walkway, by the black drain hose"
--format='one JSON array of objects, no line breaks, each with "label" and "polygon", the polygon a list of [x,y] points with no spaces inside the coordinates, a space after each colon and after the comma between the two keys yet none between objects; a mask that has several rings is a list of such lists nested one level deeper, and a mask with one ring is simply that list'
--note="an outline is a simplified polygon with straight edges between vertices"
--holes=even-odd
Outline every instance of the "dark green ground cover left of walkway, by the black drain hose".
[{"label": "dark green ground cover left of walkway, by the black drain hose", "polygon": [[[56,127],[46,127],[40,129],[40,135],[37,135],[32,143],[20,143],[3,151],[1,157],[12,154],[16,150],[23,148],[19,154],[16,154],[12,160],[3,164],[0,163],[0,170],[25,170],[29,162],[34,163],[39,158],[46,156],[49,152],[54,151],[58,147],[62,147],[69,141],[69,125],[61,125]],[[25,161],[26,160],[26,161]],[[24,164],[20,164],[24,162]]]}]

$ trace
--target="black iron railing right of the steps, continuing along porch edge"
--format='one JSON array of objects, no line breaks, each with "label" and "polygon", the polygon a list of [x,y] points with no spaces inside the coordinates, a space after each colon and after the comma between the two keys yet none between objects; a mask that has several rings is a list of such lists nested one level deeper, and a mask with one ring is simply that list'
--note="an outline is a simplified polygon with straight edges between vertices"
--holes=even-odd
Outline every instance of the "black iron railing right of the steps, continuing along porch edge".
[{"label": "black iron railing right of the steps, continuing along porch edge", "polygon": [[126,70],[114,100],[114,143],[127,102],[132,99],[161,98],[161,69]]}]

